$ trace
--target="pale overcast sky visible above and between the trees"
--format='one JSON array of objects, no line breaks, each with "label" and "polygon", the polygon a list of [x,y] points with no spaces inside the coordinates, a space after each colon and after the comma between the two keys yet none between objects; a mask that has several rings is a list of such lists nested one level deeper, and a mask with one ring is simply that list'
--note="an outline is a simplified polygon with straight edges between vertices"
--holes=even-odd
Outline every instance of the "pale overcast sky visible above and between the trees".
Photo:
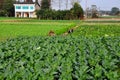
[{"label": "pale overcast sky visible above and between the trees", "polygon": [[[52,6],[54,9],[59,9],[58,1],[59,0],[54,1],[55,4]],[[60,9],[66,9],[65,1],[66,0],[61,0]],[[68,1],[69,1],[68,7],[71,7],[70,0],[68,0]],[[91,5],[97,5],[97,7],[100,10],[111,10],[112,7],[120,8],[120,0],[87,0],[87,3],[86,3],[86,0],[81,0],[80,4],[84,10],[86,9],[86,5],[89,8],[91,7]]]}]

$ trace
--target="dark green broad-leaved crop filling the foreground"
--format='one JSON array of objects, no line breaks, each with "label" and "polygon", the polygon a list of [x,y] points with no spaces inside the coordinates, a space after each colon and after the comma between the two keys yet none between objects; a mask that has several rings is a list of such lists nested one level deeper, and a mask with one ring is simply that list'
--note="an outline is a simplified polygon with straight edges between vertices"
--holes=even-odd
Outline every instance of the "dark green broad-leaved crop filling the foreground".
[{"label": "dark green broad-leaved crop filling the foreground", "polygon": [[0,43],[0,80],[119,80],[120,37],[19,37]]}]

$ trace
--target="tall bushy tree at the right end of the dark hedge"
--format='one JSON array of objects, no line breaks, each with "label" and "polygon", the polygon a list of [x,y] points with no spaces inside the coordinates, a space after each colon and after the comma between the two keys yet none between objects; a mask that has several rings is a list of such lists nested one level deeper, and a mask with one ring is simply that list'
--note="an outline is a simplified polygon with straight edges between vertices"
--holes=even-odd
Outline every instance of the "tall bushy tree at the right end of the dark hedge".
[{"label": "tall bushy tree at the right end of the dark hedge", "polygon": [[82,7],[77,2],[74,3],[73,8],[71,9],[71,13],[74,15],[75,19],[82,19],[84,15]]}]

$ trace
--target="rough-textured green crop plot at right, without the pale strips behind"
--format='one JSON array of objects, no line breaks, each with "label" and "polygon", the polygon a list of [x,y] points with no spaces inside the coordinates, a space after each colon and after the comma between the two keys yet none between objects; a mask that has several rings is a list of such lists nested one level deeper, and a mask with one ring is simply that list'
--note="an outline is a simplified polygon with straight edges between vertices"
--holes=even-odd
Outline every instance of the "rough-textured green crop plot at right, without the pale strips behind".
[{"label": "rough-textured green crop plot at right, without the pale strips behind", "polygon": [[87,37],[120,36],[120,24],[83,23],[73,32],[72,35],[84,35]]}]

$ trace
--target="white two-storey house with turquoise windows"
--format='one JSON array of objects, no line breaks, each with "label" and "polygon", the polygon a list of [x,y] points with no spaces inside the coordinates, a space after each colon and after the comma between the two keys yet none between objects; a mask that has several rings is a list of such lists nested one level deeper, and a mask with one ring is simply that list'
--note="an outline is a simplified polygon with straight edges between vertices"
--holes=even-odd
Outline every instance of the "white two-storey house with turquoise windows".
[{"label": "white two-storey house with turquoise windows", "polygon": [[15,17],[35,18],[36,10],[40,9],[40,0],[16,0],[14,3]]}]

